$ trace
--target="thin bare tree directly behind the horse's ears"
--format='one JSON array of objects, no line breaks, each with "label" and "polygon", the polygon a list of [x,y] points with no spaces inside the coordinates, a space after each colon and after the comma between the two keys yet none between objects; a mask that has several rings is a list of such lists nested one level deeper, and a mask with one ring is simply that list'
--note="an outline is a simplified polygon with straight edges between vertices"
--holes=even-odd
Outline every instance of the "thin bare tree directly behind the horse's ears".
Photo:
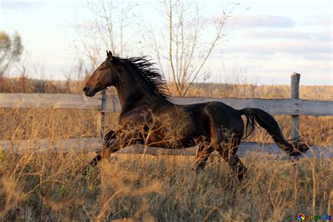
[{"label": "thin bare tree directly behind the horse's ears", "polygon": [[[99,0],[90,1],[86,9],[91,12],[91,20],[76,22],[79,45],[92,65],[105,57],[105,50],[114,55],[124,56],[128,53],[131,40],[135,34],[133,23],[136,15],[131,11],[133,4],[128,1]],[[132,44],[133,45],[133,44]],[[131,52],[133,53],[133,51]]]}]

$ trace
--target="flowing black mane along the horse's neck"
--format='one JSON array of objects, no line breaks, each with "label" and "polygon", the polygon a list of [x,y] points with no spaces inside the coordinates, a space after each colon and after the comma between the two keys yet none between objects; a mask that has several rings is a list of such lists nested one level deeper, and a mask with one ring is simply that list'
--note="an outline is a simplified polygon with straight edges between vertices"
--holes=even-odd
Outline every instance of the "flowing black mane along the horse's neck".
[{"label": "flowing black mane along the horse's neck", "polygon": [[161,96],[164,99],[170,97],[168,87],[166,82],[157,68],[154,67],[155,63],[150,63],[145,56],[143,57],[131,57],[131,58],[117,58],[124,60],[126,63],[132,65],[138,73],[140,73],[148,82],[148,86],[154,91],[157,95]]}]

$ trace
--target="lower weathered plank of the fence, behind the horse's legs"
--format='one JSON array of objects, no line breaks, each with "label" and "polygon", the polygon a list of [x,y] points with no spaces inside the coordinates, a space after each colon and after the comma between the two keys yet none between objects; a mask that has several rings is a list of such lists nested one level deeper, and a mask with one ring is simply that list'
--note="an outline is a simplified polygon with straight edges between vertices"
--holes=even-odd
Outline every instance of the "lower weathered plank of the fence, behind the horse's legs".
[{"label": "lower weathered plank of the fence, behind the horse's legs", "polygon": [[[96,152],[102,148],[100,138],[67,138],[50,141],[48,139],[34,139],[23,141],[0,141],[0,150],[7,153],[31,153],[31,152]],[[146,155],[186,155],[195,156],[197,147],[186,148],[181,150],[168,150],[162,148],[145,147],[143,145],[135,145],[124,148],[117,152],[118,154],[143,154]],[[217,154],[217,153],[216,153]],[[237,151],[239,157],[257,157],[267,156],[273,159],[289,159],[282,150],[270,143],[249,143],[243,142]],[[300,158],[333,158],[332,147],[313,146]]]}]

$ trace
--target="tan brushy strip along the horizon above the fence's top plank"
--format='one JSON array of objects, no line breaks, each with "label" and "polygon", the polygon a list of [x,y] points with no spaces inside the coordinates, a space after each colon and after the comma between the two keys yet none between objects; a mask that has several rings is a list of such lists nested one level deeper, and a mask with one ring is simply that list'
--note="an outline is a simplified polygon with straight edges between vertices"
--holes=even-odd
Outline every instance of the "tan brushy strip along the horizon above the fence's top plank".
[{"label": "tan brushy strip along the horizon above the fence's top plank", "polygon": [[[43,80],[26,77],[0,77],[0,93],[83,93],[84,80]],[[176,86],[167,83],[172,96],[178,96]],[[333,100],[332,86],[301,86],[300,98]],[[117,95],[115,88],[107,93]],[[255,84],[194,83],[186,96],[210,96],[215,98],[290,98],[290,86]]]}]

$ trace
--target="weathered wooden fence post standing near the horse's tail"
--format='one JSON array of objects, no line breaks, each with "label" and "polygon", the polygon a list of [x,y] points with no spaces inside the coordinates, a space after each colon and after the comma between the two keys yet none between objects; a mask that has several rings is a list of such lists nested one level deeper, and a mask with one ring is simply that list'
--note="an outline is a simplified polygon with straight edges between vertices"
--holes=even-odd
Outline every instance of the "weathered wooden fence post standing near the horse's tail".
[{"label": "weathered wooden fence post standing near the horse's tail", "polygon": [[[294,72],[292,74],[292,98],[299,99],[299,80],[301,74]],[[292,115],[292,138],[299,137],[299,115]]]}]

